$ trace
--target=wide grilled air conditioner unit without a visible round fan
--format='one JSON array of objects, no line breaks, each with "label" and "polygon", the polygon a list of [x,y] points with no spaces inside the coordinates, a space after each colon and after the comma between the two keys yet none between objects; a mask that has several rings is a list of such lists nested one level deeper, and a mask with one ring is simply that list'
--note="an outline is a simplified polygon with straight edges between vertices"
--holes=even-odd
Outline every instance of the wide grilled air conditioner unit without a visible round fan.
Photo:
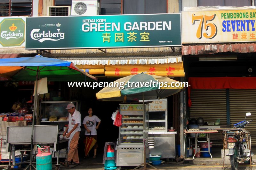
[{"label": "wide grilled air conditioner unit without a visible round fan", "polygon": [[47,16],[68,16],[70,6],[48,6]]}]

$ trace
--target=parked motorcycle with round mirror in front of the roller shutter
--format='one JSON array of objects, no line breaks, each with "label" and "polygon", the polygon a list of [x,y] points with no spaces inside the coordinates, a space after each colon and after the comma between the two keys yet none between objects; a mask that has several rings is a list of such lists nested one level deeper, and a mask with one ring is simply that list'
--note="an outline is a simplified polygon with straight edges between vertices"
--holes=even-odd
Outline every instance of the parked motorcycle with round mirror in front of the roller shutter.
[{"label": "parked motorcycle with round mirror in front of the roller shutter", "polygon": [[[251,113],[246,113],[246,117]],[[245,117],[245,119],[246,119]],[[223,130],[224,132],[224,144],[229,152],[226,156],[230,157],[230,164],[232,170],[238,169],[238,164],[244,162],[250,164],[253,153],[251,150],[251,136],[250,133],[244,129],[250,121],[241,121],[234,124],[232,129]],[[233,130],[234,129],[234,130]]]}]

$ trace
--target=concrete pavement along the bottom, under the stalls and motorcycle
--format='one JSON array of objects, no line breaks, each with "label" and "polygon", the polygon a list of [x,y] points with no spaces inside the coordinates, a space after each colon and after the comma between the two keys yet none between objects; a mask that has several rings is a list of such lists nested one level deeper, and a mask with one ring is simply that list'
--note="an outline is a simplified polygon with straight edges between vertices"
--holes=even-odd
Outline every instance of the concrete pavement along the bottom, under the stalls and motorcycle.
[{"label": "concrete pavement along the bottom, under the stalls and motorcycle", "polygon": [[[222,169],[223,168],[223,163],[221,159],[221,147],[214,147],[212,149],[212,158],[205,158],[205,157],[200,157],[200,158],[195,158],[194,160],[192,158],[187,158],[184,159],[184,161],[176,162],[174,159],[162,159],[162,164],[159,166],[155,166],[157,169],[162,169],[162,170],[168,170],[168,169],[180,169],[180,170],[194,170],[199,169],[207,169],[207,170],[215,170],[215,169]],[[256,147],[252,147],[252,152],[256,153]],[[80,165],[75,166],[75,167],[64,167],[60,166],[60,169],[72,169],[72,170],[104,170],[104,164],[102,164],[103,160],[103,155],[98,155],[97,158],[80,158]],[[54,161],[54,160],[53,160]],[[55,160],[56,161],[56,160]],[[252,169],[256,170],[256,155],[252,156]],[[53,169],[55,169],[53,162]],[[0,165],[1,169],[4,169],[6,165]],[[121,170],[132,170],[135,167],[129,167],[129,166],[122,166]],[[151,168],[150,166],[147,166],[147,168]],[[152,168],[151,168],[152,169]],[[226,164],[225,169],[231,169],[230,165]],[[239,165],[239,170],[249,170],[250,165],[245,165],[244,163],[241,163]]]}]

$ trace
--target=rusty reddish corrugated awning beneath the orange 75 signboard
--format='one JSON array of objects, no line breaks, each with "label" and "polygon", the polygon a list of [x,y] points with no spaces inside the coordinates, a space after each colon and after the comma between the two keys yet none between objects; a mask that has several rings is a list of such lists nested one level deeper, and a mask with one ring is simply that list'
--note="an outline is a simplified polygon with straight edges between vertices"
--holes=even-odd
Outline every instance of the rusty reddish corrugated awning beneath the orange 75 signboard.
[{"label": "rusty reddish corrugated awning beneath the orange 75 signboard", "polygon": [[182,45],[182,55],[204,55],[224,52],[254,53],[256,43]]}]

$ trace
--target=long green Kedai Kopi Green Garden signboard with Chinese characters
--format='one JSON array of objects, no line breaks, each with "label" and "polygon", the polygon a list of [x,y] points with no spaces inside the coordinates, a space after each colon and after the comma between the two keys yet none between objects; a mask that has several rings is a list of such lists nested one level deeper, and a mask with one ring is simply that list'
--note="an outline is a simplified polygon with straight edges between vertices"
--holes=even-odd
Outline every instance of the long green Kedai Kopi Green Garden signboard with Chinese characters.
[{"label": "long green Kedai Kopi Green Garden signboard with Chinese characters", "polygon": [[26,49],[181,46],[177,14],[28,17]]}]

